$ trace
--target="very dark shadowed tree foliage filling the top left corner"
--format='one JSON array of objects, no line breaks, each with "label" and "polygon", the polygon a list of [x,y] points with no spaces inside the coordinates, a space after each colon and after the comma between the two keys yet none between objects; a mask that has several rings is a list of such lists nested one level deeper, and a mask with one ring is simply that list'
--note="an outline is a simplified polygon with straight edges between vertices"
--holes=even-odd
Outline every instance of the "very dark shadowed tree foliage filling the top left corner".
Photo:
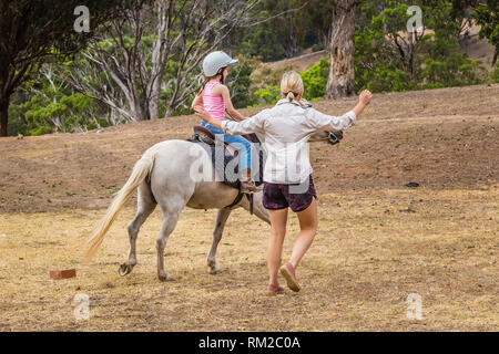
[{"label": "very dark shadowed tree foliage filling the top left corner", "polygon": [[[80,0],[2,1],[2,11],[0,11],[1,104],[9,104],[16,90],[35,75],[35,69],[47,61],[47,58],[79,52],[90,39],[96,35],[98,28],[102,23],[116,19],[123,9],[140,3],[142,3],[141,0],[85,0],[83,3]],[[74,24],[78,18],[74,15],[74,10],[82,4],[91,14],[92,29],[86,32],[77,32]],[[3,112],[0,113],[0,135],[7,135],[9,133],[8,115]]]}]

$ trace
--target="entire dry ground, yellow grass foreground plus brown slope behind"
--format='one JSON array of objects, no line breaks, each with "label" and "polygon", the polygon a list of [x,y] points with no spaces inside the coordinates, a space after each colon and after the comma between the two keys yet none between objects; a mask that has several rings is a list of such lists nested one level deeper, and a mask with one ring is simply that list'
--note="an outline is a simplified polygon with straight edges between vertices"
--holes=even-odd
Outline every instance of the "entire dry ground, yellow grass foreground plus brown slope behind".
[{"label": "entire dry ground, yellow grass foreground plus brown slope behind", "polygon": [[[354,101],[314,104],[339,114]],[[0,139],[0,331],[499,330],[499,85],[375,95],[339,145],[312,144],[319,231],[298,268],[303,291],[277,296],[265,295],[269,227],[241,209],[216,275],[205,264],[215,210],[182,214],[166,247],[170,282],[156,279],[159,208],[139,235],[139,264],[118,275],[133,201],[93,261],[81,260],[134,162],[189,137],[196,121]],[[288,229],[285,258],[295,216]],[[50,279],[59,268],[77,278]],[[73,315],[79,293],[89,320]],[[421,295],[421,320],[406,316],[410,293]]]}]

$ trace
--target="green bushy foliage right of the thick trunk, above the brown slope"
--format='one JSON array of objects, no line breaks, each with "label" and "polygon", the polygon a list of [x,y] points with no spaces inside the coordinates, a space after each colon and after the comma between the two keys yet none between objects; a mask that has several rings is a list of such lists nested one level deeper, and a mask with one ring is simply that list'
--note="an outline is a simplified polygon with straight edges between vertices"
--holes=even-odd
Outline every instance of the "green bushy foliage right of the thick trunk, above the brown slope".
[{"label": "green bushy foliage right of the thick trunk, above the brown slope", "polygon": [[[407,33],[409,19],[406,1],[368,1],[360,11],[363,25],[356,29],[356,90],[373,92],[407,91],[478,84],[486,69],[469,59],[457,41],[462,17],[451,1],[416,1],[421,7],[422,22],[432,33]],[[428,31],[427,31],[428,32]]]}]

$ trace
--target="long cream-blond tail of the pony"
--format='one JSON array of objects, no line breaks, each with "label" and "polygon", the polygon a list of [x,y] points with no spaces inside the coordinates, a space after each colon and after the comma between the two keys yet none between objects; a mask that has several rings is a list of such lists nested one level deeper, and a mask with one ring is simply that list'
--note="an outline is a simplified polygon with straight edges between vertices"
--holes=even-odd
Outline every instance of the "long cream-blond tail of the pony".
[{"label": "long cream-blond tail of the pony", "polygon": [[120,191],[118,191],[113,201],[109,206],[105,216],[101,219],[91,238],[89,239],[90,246],[85,252],[85,261],[90,261],[95,254],[102,243],[102,240],[104,239],[105,232],[108,232],[109,228],[116,218],[118,212],[130,199],[135,188],[139,187],[139,185],[151,174],[154,167],[156,153],[157,145],[154,145],[153,147],[147,149],[144,155],[142,155],[142,157],[135,163],[129,180],[126,180],[124,186],[120,189]]}]

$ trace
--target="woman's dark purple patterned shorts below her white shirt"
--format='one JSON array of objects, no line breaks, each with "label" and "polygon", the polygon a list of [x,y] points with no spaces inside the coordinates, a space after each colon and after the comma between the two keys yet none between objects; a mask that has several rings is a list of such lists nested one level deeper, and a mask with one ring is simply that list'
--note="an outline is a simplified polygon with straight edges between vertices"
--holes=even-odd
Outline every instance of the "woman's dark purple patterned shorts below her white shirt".
[{"label": "woman's dark purple patterned shorts below her white shirt", "polygon": [[262,202],[265,209],[277,210],[289,207],[294,212],[298,212],[308,208],[313,198],[317,199],[317,194],[312,175],[296,185],[264,183]]}]

